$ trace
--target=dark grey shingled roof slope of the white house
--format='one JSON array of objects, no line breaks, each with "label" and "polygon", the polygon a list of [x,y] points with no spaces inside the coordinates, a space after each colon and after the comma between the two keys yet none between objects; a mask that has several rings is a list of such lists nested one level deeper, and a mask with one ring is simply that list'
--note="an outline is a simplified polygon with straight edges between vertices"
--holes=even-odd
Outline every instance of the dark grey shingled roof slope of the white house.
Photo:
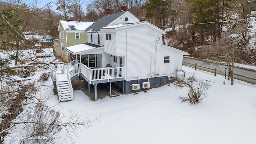
[{"label": "dark grey shingled roof slope of the white house", "polygon": [[100,28],[107,26],[108,24],[116,20],[118,17],[122,16],[125,12],[128,12],[128,11],[118,12],[118,13],[113,13],[113,14],[108,14],[106,16],[103,16],[102,18],[94,22],[94,24],[86,28],[83,32],[98,32],[100,31]]}]

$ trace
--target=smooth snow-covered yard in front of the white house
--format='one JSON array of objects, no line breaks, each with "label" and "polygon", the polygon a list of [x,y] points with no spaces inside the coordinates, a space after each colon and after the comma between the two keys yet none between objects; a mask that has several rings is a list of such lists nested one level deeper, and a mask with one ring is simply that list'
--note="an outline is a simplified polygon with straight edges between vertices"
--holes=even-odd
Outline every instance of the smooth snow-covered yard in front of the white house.
[{"label": "smooth snow-covered yard in front of the white house", "polygon": [[[93,126],[77,130],[77,144],[255,144],[256,85],[235,80],[223,84],[223,76],[183,67],[186,76],[210,81],[208,97],[198,105],[181,103],[185,88],[173,84],[91,101],[82,91],[74,91],[74,100],[56,106],[61,113],[75,110]],[[52,93],[52,89],[46,90]],[[46,92],[42,92],[46,93]],[[50,105],[58,103],[52,96]],[[58,136],[66,136],[62,130]],[[56,143],[70,141],[56,139]]]}]

